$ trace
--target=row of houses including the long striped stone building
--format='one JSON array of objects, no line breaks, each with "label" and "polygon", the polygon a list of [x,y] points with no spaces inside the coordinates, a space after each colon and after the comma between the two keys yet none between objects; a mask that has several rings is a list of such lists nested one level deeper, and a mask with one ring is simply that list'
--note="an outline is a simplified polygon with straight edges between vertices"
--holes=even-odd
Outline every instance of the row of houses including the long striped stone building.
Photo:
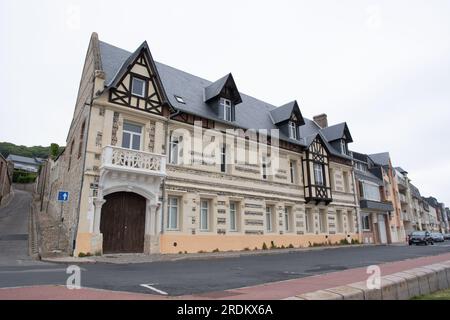
[{"label": "row of houses including the long striped stone building", "polygon": [[[68,253],[179,253],[404,242],[448,230],[388,153],[350,151],[346,123],[243,94],[93,33],[67,135],[38,179]],[[58,191],[68,201],[57,201]],[[59,218],[58,218],[59,219]]]}]

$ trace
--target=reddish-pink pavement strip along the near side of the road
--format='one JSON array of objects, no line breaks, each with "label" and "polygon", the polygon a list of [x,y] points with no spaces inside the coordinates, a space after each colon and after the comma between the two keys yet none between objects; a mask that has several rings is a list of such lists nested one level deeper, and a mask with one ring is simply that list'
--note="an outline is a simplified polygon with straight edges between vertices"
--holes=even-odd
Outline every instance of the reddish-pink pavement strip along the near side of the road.
[{"label": "reddish-pink pavement strip along the near side of the road", "polygon": [[[380,265],[381,275],[386,276],[413,268],[448,262],[449,260],[450,253],[446,253],[436,256],[384,263]],[[34,286],[0,289],[0,299],[277,300],[298,296],[302,293],[329,289],[332,287],[343,286],[358,281],[365,281],[367,277],[368,274],[366,273],[366,268],[364,267],[300,279],[266,283],[251,287],[177,297],[107,291],[91,288],[69,290],[64,286]]]}]

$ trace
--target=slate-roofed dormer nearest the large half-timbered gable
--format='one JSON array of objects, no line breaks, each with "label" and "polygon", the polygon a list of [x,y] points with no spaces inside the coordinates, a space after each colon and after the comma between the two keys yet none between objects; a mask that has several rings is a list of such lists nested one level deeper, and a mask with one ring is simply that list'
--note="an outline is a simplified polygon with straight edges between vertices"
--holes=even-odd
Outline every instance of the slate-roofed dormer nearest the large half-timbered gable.
[{"label": "slate-roofed dormer nearest the large half-timbered gable", "polygon": [[235,106],[242,102],[242,98],[231,73],[204,88],[204,100],[220,119],[235,121]]}]

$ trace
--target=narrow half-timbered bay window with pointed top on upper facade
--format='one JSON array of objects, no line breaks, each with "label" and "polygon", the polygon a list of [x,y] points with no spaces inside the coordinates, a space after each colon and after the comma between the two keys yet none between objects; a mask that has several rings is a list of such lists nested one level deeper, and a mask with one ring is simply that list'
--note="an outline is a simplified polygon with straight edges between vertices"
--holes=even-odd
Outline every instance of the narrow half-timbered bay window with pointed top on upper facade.
[{"label": "narrow half-timbered bay window with pointed top on upper facade", "polygon": [[306,203],[328,204],[332,201],[329,151],[320,134],[316,135],[305,151],[303,179]]}]

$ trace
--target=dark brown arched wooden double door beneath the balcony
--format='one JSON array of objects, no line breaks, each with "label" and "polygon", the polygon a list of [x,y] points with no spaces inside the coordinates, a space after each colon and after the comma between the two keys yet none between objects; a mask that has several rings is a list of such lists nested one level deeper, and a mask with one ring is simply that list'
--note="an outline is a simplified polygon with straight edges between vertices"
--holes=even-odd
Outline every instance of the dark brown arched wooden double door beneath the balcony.
[{"label": "dark brown arched wooden double door beneath the balcony", "polygon": [[105,196],[105,200],[100,221],[103,252],[143,252],[145,198],[132,192],[116,192]]}]

